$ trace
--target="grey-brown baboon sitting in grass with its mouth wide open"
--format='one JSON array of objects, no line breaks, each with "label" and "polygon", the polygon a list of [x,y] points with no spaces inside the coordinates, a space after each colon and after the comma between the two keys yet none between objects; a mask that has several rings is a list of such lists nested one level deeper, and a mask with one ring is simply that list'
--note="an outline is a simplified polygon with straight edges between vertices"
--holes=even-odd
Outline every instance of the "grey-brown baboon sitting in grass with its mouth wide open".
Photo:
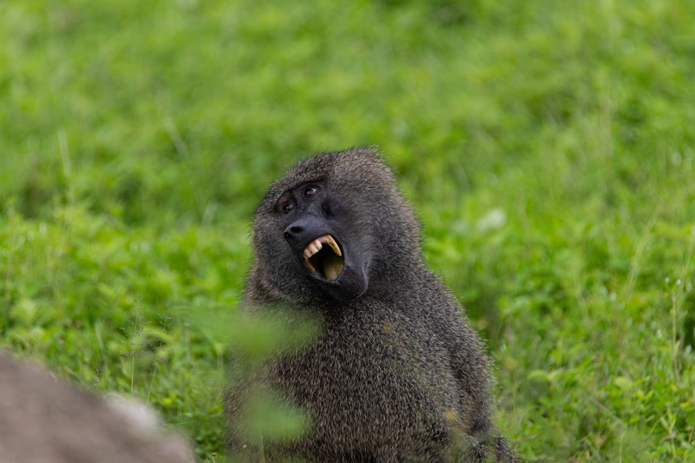
[{"label": "grey-brown baboon sitting in grass with its mouth wide open", "polygon": [[[231,383],[231,452],[251,461],[517,461],[492,423],[482,342],[423,262],[418,219],[379,153],[299,162],[265,193],[252,246],[247,308],[312,314],[320,334]],[[259,444],[239,426],[250,389],[263,387],[306,410],[296,440]]]}]

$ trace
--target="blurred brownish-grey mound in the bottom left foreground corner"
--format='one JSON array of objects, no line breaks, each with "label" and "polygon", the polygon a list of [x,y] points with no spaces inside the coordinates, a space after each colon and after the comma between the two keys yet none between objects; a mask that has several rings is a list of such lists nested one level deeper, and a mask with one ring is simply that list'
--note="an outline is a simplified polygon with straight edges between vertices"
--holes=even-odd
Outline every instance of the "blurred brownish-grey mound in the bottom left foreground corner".
[{"label": "blurred brownish-grey mound in the bottom left foreground corner", "polygon": [[188,442],[152,412],[101,398],[0,351],[0,462],[185,463]]}]

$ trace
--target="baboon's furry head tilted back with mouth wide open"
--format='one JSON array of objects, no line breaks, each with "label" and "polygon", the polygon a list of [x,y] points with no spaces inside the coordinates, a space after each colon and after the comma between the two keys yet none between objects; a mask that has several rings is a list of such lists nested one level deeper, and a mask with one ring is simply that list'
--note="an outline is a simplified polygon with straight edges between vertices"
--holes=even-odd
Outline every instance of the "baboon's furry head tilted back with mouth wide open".
[{"label": "baboon's furry head tilted back with mouth wide open", "polygon": [[375,151],[316,155],[271,185],[256,210],[250,292],[350,301],[419,255],[418,228]]}]

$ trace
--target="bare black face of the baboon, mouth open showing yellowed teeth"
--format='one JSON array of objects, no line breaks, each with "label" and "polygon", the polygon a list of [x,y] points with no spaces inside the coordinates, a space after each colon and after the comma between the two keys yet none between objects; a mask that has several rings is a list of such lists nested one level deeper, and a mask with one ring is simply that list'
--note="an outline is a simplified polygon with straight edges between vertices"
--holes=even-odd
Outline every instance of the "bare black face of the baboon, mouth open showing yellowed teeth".
[{"label": "bare black face of the baboon, mouth open showing yellowed teeth", "polygon": [[339,301],[363,294],[368,279],[366,255],[350,226],[350,212],[323,180],[295,185],[275,206],[291,259],[306,278]]}]

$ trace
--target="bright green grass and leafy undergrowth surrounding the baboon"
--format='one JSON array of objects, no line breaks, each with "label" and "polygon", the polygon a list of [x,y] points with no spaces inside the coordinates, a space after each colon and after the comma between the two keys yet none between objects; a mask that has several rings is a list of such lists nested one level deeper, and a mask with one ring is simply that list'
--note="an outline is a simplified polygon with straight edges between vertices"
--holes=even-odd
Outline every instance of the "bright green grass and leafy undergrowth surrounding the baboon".
[{"label": "bright green grass and leafy undergrowth surrounding the baboon", "polygon": [[689,0],[0,3],[0,344],[224,455],[254,207],[379,144],[528,461],[695,460]]}]

